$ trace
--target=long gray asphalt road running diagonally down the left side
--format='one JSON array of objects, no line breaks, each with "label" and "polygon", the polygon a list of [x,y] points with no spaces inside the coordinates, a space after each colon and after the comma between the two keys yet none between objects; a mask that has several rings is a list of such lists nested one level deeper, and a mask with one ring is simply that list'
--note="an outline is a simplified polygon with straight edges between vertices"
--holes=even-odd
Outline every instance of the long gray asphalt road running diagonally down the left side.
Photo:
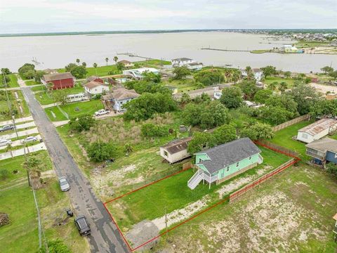
[{"label": "long gray asphalt road running diagonally down the left side", "polygon": [[112,223],[103,203],[95,196],[93,189],[86,177],[63,144],[55,129],[49,121],[41,105],[35,100],[30,88],[22,88],[29,109],[35,123],[48,149],[56,174],[67,176],[70,179],[70,200],[75,209],[75,214],[84,214],[91,226],[91,235],[88,236],[91,252],[128,252],[123,239],[116,226]]}]

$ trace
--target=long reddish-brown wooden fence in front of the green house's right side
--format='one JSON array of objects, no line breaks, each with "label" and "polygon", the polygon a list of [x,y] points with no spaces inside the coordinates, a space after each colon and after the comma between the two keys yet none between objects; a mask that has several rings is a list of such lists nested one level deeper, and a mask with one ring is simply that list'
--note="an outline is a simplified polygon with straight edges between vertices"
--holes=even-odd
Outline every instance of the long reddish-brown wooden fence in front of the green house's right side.
[{"label": "long reddish-brown wooden fence in front of the green house's right side", "polygon": [[291,165],[295,164],[296,162],[298,162],[298,160],[296,158],[292,158],[291,160],[289,160],[288,162],[285,162],[284,164],[277,167],[273,171],[270,171],[269,173],[261,176],[260,178],[256,179],[255,181],[249,183],[247,186],[244,186],[241,189],[237,190],[236,192],[232,193],[230,195],[230,202],[236,200],[241,195],[244,195],[244,193],[246,193],[247,191],[255,188],[258,185],[260,185],[260,183],[263,183],[267,179],[270,179],[272,176],[275,176],[275,175],[279,174],[280,172],[284,171],[284,169],[290,167]]}]

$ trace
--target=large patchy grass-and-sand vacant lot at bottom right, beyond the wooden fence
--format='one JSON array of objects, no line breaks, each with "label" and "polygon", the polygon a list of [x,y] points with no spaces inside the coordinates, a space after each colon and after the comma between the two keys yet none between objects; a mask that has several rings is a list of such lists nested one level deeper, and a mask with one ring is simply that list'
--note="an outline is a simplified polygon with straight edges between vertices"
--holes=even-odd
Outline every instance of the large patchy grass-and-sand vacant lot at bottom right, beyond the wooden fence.
[{"label": "large patchy grass-and-sand vacant lot at bottom right, beyond the wooden fence", "polygon": [[336,180],[301,164],[176,228],[154,251],[333,253],[336,206]]}]

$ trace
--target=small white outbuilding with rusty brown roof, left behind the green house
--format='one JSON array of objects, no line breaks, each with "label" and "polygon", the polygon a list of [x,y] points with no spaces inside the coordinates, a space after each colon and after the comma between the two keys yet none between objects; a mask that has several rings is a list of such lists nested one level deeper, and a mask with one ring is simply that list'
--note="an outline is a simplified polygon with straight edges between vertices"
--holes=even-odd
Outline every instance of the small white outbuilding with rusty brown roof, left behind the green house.
[{"label": "small white outbuilding with rusty brown roof, left behind the green house", "polygon": [[181,161],[191,155],[187,152],[187,144],[191,141],[191,137],[181,138],[170,141],[166,145],[160,147],[160,155],[169,163]]}]

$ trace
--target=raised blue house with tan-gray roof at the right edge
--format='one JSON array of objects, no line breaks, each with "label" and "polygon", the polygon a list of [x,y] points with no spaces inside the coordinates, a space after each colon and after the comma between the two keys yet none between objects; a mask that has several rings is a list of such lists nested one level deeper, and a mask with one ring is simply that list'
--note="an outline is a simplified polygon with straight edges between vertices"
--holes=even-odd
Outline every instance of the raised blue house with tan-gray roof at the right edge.
[{"label": "raised blue house with tan-gray roof at the right edge", "polygon": [[306,154],[312,157],[312,163],[324,165],[326,162],[337,164],[337,140],[326,137],[305,145]]}]

